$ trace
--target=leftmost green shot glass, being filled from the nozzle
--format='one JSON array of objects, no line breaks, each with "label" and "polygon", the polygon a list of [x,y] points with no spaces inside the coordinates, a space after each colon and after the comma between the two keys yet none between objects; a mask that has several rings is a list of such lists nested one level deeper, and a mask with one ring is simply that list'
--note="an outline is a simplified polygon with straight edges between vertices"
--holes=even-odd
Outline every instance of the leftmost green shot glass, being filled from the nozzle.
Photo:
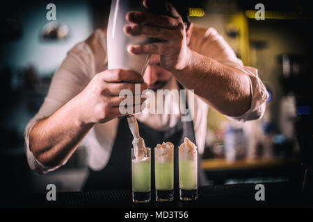
[{"label": "leftmost green shot glass, being filled from the nozzle", "polygon": [[131,148],[131,183],[134,203],[147,203],[151,200],[151,155],[136,160],[135,149]]}]

